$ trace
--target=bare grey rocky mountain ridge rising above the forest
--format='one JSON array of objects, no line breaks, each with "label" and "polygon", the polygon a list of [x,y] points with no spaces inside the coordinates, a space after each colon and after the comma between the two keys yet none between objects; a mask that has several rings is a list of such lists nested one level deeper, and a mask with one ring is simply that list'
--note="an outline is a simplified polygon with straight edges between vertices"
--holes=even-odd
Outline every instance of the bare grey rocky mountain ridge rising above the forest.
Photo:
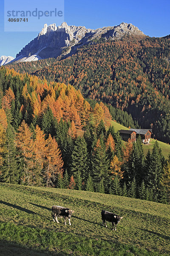
[{"label": "bare grey rocky mountain ridge rising above the forest", "polygon": [[144,37],[144,33],[131,23],[117,26],[107,26],[98,29],[86,29],[85,26],[68,26],[63,22],[61,26],[44,24],[41,32],[16,55],[13,61],[37,61],[45,58],[75,53],[85,44],[95,40],[115,40],[125,35]]}]

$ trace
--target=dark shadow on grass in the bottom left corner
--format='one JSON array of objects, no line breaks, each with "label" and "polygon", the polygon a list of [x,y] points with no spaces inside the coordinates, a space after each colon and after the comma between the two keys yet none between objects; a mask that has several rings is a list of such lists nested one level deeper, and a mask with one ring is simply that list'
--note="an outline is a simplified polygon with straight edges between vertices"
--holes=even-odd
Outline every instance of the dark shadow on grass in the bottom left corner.
[{"label": "dark shadow on grass in the bottom left corner", "polygon": [[0,240],[0,255],[11,256],[67,256],[68,254],[57,253],[54,248],[54,252],[48,250],[38,250],[33,248],[26,248],[21,244],[8,242],[6,240]]}]

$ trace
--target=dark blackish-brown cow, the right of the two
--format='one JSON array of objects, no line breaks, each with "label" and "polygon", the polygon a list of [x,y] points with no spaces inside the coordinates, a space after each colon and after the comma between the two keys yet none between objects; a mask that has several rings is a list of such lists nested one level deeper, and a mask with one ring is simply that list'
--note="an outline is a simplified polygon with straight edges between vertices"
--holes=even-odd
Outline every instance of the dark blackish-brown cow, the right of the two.
[{"label": "dark blackish-brown cow, the right of the two", "polygon": [[[105,210],[102,210],[101,214],[102,214],[102,225],[104,226],[104,224],[105,224],[105,227],[107,227],[106,221],[109,221],[112,223],[113,228],[114,228],[114,224],[115,224],[115,230],[116,230],[117,224],[123,218],[123,217],[120,217],[112,212],[107,212]],[[112,228],[112,230],[113,230],[113,228]]]}]

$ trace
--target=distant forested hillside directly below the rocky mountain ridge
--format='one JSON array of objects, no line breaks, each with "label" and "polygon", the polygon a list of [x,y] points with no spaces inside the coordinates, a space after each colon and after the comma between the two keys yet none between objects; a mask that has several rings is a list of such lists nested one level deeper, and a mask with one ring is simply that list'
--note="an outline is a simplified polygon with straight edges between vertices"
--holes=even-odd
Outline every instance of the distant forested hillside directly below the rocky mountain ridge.
[{"label": "distant forested hillside directly below the rocky mountain ridge", "polygon": [[[170,143],[170,37],[122,38],[79,48],[63,60],[12,64],[48,81],[72,84],[85,98],[131,113],[142,128]],[[50,63],[51,62],[51,63]],[[50,65],[52,64],[52,65]]]}]

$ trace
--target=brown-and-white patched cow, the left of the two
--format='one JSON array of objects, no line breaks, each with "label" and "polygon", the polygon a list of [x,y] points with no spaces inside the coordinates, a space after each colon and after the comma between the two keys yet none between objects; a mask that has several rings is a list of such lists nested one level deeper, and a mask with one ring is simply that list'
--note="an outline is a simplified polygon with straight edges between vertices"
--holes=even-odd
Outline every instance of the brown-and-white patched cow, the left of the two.
[{"label": "brown-and-white patched cow, the left of the two", "polygon": [[59,221],[57,220],[57,217],[58,218],[65,218],[65,225],[66,225],[66,221],[67,221],[67,218],[68,218],[69,225],[71,226],[70,217],[71,217],[72,213],[74,213],[74,211],[72,211],[69,208],[54,205],[52,207],[51,217],[53,218],[53,221],[55,222],[55,220],[56,220],[57,223],[59,223]]}]

